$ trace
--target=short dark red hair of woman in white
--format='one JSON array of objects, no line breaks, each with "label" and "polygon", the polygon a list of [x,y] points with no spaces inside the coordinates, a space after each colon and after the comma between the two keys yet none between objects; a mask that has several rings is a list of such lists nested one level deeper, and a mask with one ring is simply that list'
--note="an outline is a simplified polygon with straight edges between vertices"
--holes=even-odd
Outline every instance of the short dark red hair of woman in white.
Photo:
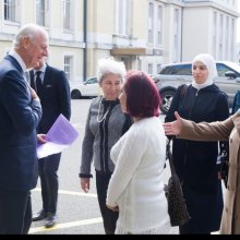
[{"label": "short dark red hair of woman in white", "polygon": [[127,111],[132,117],[158,117],[160,96],[153,79],[141,71],[129,71],[124,82]]}]

